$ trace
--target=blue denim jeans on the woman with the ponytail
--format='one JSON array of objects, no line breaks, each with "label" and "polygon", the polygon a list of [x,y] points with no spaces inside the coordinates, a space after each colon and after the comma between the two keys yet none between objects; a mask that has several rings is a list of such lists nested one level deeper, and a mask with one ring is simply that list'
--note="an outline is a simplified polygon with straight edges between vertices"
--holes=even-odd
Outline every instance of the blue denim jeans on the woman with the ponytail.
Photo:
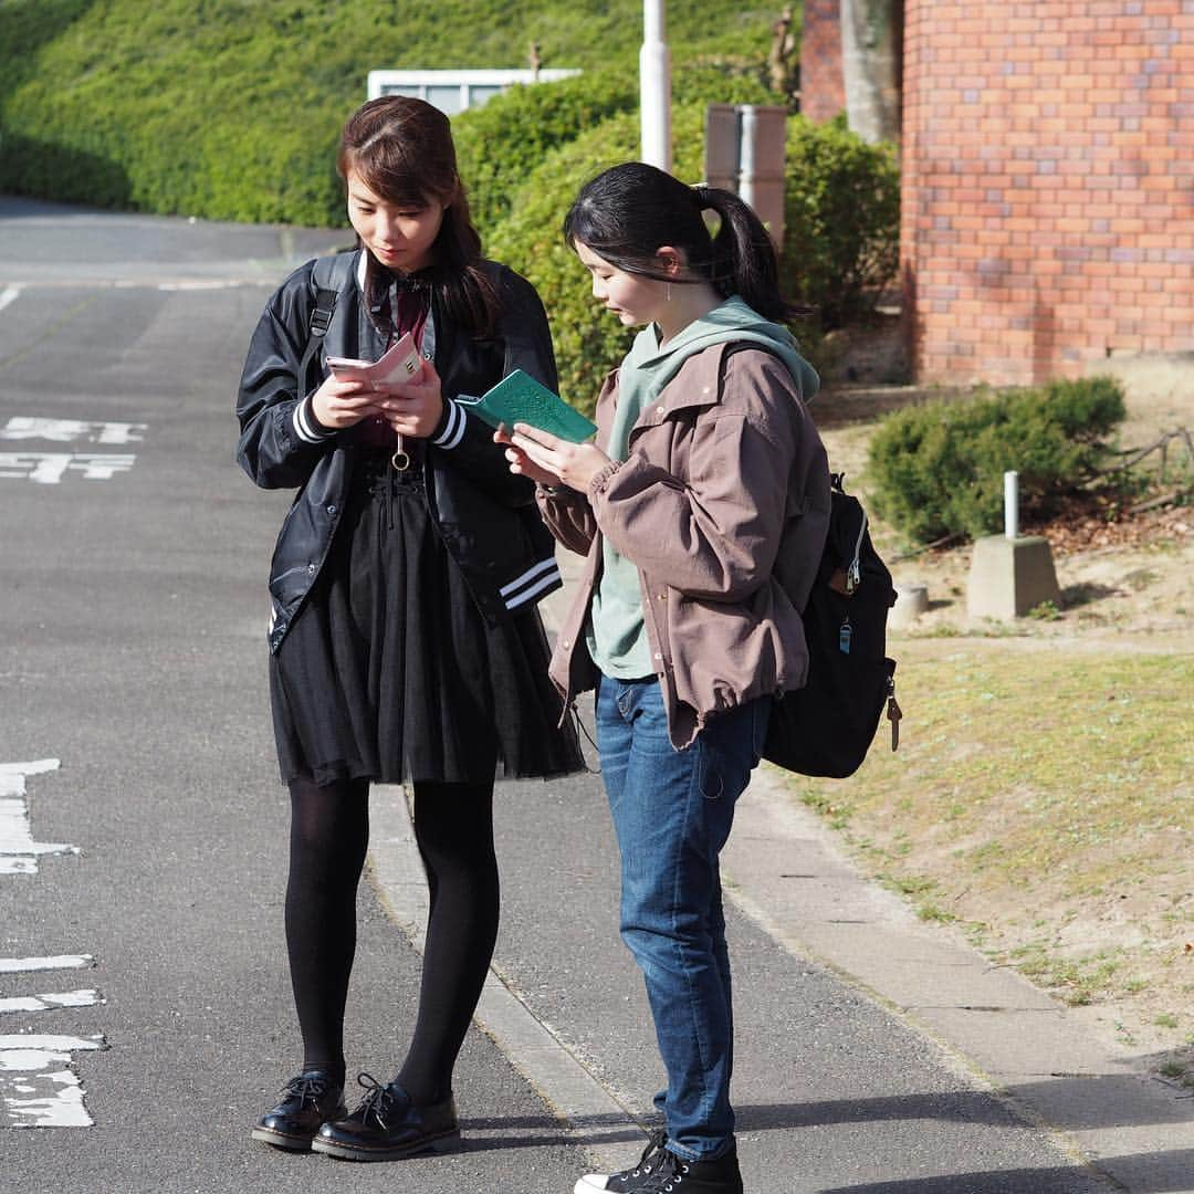
[{"label": "blue denim jeans on the woman with the ponytail", "polygon": [[597,746],[622,855],[622,940],[646,981],[667,1089],[667,1147],[710,1161],[734,1143],[733,1010],[718,855],[758,763],[770,701],[709,720],[687,750],[667,738],[659,682],[607,676]]}]

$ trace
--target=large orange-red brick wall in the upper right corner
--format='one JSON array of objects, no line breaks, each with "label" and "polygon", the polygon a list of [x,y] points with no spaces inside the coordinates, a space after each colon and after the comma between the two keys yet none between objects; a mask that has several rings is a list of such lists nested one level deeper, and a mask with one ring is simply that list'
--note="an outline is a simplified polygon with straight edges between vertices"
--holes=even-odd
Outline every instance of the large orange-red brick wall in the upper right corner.
[{"label": "large orange-red brick wall in the upper right corner", "polygon": [[1194,0],[906,0],[904,37],[917,378],[1194,351]]}]

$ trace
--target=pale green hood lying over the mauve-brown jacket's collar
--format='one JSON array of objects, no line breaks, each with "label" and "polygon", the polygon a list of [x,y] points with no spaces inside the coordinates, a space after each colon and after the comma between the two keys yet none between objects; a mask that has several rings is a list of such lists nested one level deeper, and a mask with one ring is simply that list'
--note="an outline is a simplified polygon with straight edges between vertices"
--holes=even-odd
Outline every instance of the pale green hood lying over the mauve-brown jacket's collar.
[{"label": "pale green hood lying over the mauve-brown jacket's collar", "polygon": [[645,327],[635,337],[624,365],[639,370],[648,390],[658,394],[690,356],[731,340],[755,343],[777,356],[788,367],[806,402],[820,388],[820,377],[800,355],[795,337],[781,324],[763,319],[737,295],[694,320],[663,346],[658,327]]}]

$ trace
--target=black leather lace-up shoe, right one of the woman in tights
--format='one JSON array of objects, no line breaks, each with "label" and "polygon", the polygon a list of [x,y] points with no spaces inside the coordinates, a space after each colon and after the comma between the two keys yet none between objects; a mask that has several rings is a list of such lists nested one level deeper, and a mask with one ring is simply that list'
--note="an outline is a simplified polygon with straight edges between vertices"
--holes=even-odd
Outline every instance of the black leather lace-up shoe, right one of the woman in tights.
[{"label": "black leather lace-up shoe, right one of the woman in tights", "polygon": [[419,1152],[450,1152],[460,1144],[456,1103],[445,1098],[416,1107],[396,1083],[382,1085],[357,1075],[368,1094],[347,1118],[325,1124],[312,1140],[315,1152],[344,1161],[398,1161]]}]

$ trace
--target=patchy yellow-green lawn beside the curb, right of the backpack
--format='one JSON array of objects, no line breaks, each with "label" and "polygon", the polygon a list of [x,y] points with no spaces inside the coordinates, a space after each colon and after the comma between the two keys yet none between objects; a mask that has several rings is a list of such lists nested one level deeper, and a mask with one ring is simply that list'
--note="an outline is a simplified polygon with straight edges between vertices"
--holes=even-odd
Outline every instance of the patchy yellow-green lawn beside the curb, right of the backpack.
[{"label": "patchy yellow-green lawn beside the curb, right of the backpack", "polygon": [[[962,921],[983,948],[1064,1001],[1151,998],[1165,983],[1181,1001],[1194,658],[1151,645],[894,647],[899,752],[880,730],[855,776],[793,776],[793,795],[922,919]],[[1108,946],[1091,933],[1083,943],[1081,925],[1098,925],[1126,899],[1140,910],[1131,922],[1140,940]],[[1170,956],[1167,977],[1157,965]],[[1153,1022],[1174,1027],[1164,1014]]]}]

